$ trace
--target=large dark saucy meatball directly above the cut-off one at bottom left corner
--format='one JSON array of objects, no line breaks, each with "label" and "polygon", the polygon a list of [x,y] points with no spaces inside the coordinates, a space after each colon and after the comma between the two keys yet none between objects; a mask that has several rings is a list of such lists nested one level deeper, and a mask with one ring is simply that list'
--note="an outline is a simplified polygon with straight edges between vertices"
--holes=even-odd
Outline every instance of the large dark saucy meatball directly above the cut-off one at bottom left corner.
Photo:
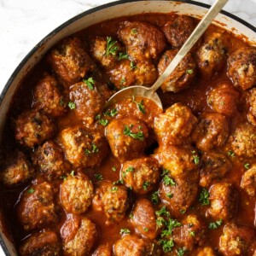
[{"label": "large dark saucy meatball directly above the cut-off one at bottom left corner", "polygon": [[24,230],[55,223],[57,215],[53,187],[47,182],[30,186],[21,195],[17,212]]}]

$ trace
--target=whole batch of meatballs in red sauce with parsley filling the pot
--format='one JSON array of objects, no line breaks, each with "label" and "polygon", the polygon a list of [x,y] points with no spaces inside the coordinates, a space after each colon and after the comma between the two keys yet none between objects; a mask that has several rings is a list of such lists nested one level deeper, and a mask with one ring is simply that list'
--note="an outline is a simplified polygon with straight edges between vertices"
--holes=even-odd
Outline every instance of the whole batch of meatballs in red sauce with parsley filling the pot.
[{"label": "whole batch of meatballs in red sauce with parsley filling the pot", "polygon": [[162,16],[108,20],[45,55],[1,159],[5,193],[21,188],[20,255],[256,255],[256,48],[211,26],[162,84],[164,111],[103,109],[154,84],[197,23]]}]

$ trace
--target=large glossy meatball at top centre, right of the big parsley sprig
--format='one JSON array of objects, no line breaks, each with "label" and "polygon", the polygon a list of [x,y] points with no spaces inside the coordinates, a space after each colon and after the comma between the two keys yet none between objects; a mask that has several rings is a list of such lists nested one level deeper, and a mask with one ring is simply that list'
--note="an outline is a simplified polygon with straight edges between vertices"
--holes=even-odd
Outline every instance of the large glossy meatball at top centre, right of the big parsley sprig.
[{"label": "large glossy meatball at top centre, right of the big parsley sprig", "polygon": [[118,32],[132,59],[157,59],[166,48],[166,39],[160,29],[150,23],[125,21]]}]

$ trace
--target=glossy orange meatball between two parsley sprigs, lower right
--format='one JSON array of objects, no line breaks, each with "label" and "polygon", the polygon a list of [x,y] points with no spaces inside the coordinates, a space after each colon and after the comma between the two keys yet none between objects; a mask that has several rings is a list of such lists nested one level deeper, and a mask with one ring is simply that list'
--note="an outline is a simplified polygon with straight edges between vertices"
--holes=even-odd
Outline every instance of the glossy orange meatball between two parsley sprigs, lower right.
[{"label": "glossy orange meatball between two parsley sprigs, lower right", "polygon": [[228,220],[235,216],[238,195],[231,183],[215,183],[210,189],[211,207],[207,214],[214,219]]}]

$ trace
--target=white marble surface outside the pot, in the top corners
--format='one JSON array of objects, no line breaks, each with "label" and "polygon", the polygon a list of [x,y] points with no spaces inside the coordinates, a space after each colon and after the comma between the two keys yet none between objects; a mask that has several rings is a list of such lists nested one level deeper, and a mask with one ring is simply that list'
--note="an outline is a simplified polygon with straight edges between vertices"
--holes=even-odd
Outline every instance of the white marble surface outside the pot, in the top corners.
[{"label": "white marble surface outside the pot, in the top corners", "polygon": [[[114,1],[0,0],[0,91],[30,49],[55,27],[74,15],[110,2]],[[212,4],[214,0],[198,2]],[[256,26],[256,0],[230,0],[224,9]]]}]

